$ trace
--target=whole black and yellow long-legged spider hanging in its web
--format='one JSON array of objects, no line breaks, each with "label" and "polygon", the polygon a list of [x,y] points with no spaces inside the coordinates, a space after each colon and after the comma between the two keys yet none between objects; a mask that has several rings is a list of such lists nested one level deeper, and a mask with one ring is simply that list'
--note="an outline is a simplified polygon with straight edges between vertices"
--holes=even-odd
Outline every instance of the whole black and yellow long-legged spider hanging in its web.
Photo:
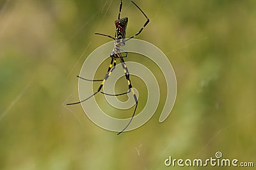
[{"label": "whole black and yellow long-legged spider hanging in its web", "polygon": [[[102,33],[95,33],[95,35],[102,35],[102,36],[108,36],[109,38],[112,38],[115,42],[115,45],[114,45],[114,49],[113,51],[111,52],[110,54],[110,58],[111,58],[111,62],[110,62],[110,65],[109,65],[109,68],[108,68],[108,72],[106,73],[104,79],[101,79],[101,80],[90,80],[90,79],[84,79],[83,77],[79,77],[77,75],[77,77],[79,79],[83,79],[85,81],[101,81],[101,84],[98,88],[98,90],[93,93],[90,97],[88,98],[85,98],[84,100],[81,100],[79,102],[75,102],[75,103],[71,103],[71,104],[67,104],[67,105],[74,105],[74,104],[80,104],[81,102],[84,102],[86,100],[88,100],[89,98],[93,97],[94,95],[96,95],[97,93],[102,93],[104,95],[110,95],[110,96],[120,96],[120,95],[125,95],[127,93],[130,93],[132,91],[132,94],[133,94],[133,97],[134,97],[134,101],[135,101],[135,109],[134,109],[134,112],[132,114],[132,117],[131,117],[131,120],[129,121],[129,123],[127,123],[127,125],[123,128],[123,130],[121,132],[119,132],[117,135],[121,134],[122,132],[124,132],[124,130],[129,126],[129,124],[131,123],[132,121],[132,118],[134,117],[134,114],[136,112],[136,109],[137,109],[137,106],[138,106],[138,99],[136,97],[136,94],[134,93],[134,89],[132,87],[132,84],[131,84],[131,79],[130,79],[130,73],[128,71],[128,68],[127,66],[125,65],[125,61],[124,61],[124,58],[127,57],[127,51],[125,50],[122,50],[120,49],[120,46],[124,46],[125,45],[125,42],[127,42],[127,40],[130,40],[131,38],[134,38],[135,36],[138,36],[140,35],[141,31],[143,31],[143,29],[147,26],[148,22],[149,22],[149,19],[147,17],[147,15],[141,10],[141,8],[136,4],[134,3],[133,1],[131,1],[139,10],[141,13],[143,13],[143,15],[145,16],[145,18],[147,19],[147,21],[145,22],[145,24],[143,25],[143,27],[141,27],[140,31],[138,31],[138,33],[136,33],[135,35],[131,36],[130,38],[128,39],[125,39],[125,33],[126,33],[126,27],[127,27],[127,22],[128,22],[128,17],[124,17],[124,18],[121,18],[120,19],[120,14],[121,14],[121,11],[122,11],[122,4],[123,4],[123,0],[121,0],[120,2],[120,7],[119,7],[119,13],[118,13],[118,19],[115,20],[115,26],[116,26],[116,33],[115,33],[115,37],[113,36],[110,36],[110,35],[104,35]],[[121,52],[124,52],[125,53],[125,56],[122,56]],[[124,74],[125,74],[125,78],[127,79],[127,82],[128,82],[128,91],[125,92],[125,93],[120,93],[120,94],[115,94],[115,95],[112,95],[112,94],[108,94],[108,93],[104,93],[102,91],[100,91],[102,89],[102,87],[104,86],[104,82],[107,81],[108,77],[111,75],[111,73],[113,72],[113,70],[115,69],[115,66],[116,66],[116,59],[120,59],[120,63],[122,65],[122,67],[124,68]]]}]

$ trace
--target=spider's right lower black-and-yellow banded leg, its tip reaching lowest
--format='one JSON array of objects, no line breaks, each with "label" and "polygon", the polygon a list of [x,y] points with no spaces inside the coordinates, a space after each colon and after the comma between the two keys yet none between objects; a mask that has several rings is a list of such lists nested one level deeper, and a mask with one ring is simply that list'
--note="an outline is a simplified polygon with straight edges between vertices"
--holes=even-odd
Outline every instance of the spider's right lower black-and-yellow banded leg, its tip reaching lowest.
[{"label": "spider's right lower black-and-yellow banded leg, its tip reaching lowest", "polygon": [[127,125],[124,127],[124,129],[119,132],[117,135],[121,134],[122,132],[124,132],[124,130],[130,125],[131,121],[132,121],[132,118],[134,117],[135,115],[135,112],[136,112],[136,109],[137,109],[137,106],[138,106],[138,99],[136,97],[136,94],[134,92],[134,89],[132,88],[132,84],[131,84],[131,80],[130,80],[130,73],[128,71],[128,68],[127,66],[125,65],[125,62],[124,62],[124,59],[123,58],[120,58],[120,62],[122,64],[122,67],[124,68],[124,74],[125,74],[125,78],[127,79],[128,81],[128,88],[132,91],[132,94],[133,94],[133,97],[134,97],[134,100],[135,100],[135,109],[134,109],[134,112],[132,114],[132,117],[131,117],[131,120],[127,123]]}]

